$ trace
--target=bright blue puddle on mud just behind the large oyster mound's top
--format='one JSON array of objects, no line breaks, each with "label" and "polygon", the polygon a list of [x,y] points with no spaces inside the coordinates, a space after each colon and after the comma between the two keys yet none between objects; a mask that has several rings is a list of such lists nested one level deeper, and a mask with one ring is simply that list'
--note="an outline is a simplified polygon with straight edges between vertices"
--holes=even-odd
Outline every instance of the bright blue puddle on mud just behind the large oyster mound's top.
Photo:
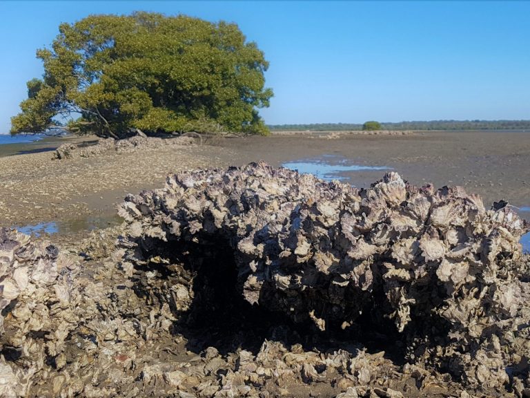
[{"label": "bright blue puddle on mud just behind the large oyster mound's top", "polygon": [[351,160],[337,155],[322,155],[319,158],[295,160],[293,162],[282,163],[283,167],[297,170],[302,174],[313,174],[322,180],[349,180],[349,177],[341,176],[347,171],[366,170],[388,170],[390,167],[384,166],[361,166],[353,164]]}]

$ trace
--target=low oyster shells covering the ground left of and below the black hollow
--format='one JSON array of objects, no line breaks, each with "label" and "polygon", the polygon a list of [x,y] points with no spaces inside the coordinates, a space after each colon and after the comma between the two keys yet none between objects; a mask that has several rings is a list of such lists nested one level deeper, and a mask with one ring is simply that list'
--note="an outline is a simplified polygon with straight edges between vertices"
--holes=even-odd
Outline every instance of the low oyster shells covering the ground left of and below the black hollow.
[{"label": "low oyster shells covering the ground left of and below the black hollow", "polygon": [[[92,256],[101,254],[96,240],[84,243]],[[128,268],[122,255],[80,263],[68,251],[0,229],[0,397],[403,397],[389,386],[399,368],[383,352],[351,343],[307,351],[290,342],[300,337],[284,325],[254,349],[239,346],[244,337],[228,329],[228,352],[192,348],[173,330],[178,310],[195,295],[186,269],[174,265],[168,286],[153,271]],[[427,386],[425,371],[412,372]],[[376,379],[386,381],[371,386]]]}]

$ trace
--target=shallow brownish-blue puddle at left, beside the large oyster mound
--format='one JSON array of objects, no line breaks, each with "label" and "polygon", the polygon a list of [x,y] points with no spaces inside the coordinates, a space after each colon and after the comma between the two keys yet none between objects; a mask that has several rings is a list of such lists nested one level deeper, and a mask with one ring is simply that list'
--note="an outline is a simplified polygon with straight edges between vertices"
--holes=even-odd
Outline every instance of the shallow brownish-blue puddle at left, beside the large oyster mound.
[{"label": "shallow brownish-blue puddle at left, beside the large oyster mound", "polygon": [[75,234],[81,231],[92,231],[94,229],[102,229],[119,225],[123,218],[114,216],[88,216],[85,218],[76,218],[73,220],[62,220],[52,222],[39,222],[35,225],[14,225],[23,234],[34,234],[41,236],[42,234]]}]

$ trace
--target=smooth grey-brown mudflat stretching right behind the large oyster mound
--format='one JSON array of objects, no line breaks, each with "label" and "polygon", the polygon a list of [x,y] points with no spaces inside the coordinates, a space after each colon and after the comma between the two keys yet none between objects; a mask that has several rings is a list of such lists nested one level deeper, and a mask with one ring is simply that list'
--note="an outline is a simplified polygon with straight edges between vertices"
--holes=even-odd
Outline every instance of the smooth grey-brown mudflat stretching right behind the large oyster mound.
[{"label": "smooth grey-brown mudflat stretching right behind the large oyster mound", "polygon": [[[386,166],[412,184],[460,185],[478,193],[484,205],[504,199],[530,205],[530,132],[429,131],[410,135],[343,135],[337,139],[307,136],[233,138],[222,144],[237,152],[237,164],[282,162],[339,155],[364,166]],[[384,171],[349,173],[366,187]]]}]

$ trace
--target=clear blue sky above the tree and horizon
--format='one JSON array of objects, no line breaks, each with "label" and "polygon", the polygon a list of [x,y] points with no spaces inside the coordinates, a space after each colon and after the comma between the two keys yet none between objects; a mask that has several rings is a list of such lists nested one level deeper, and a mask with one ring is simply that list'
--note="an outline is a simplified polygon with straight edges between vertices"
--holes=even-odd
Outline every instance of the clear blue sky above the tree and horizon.
[{"label": "clear blue sky above the tree and horizon", "polygon": [[526,1],[0,1],[0,133],[59,23],[135,10],[237,23],[271,63],[268,124],[530,119]]}]

